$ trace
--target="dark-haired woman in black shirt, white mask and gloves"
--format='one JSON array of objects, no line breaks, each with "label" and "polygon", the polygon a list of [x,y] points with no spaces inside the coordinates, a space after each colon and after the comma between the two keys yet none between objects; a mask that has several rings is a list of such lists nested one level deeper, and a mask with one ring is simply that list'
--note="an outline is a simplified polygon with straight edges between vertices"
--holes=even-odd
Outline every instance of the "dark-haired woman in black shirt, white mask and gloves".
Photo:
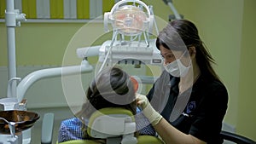
[{"label": "dark-haired woman in black shirt, white mask and gloves", "polygon": [[156,46],[165,71],[147,96],[137,95],[143,114],[166,144],[223,143],[219,134],[228,92],[195,24],[173,20],[160,32]]}]

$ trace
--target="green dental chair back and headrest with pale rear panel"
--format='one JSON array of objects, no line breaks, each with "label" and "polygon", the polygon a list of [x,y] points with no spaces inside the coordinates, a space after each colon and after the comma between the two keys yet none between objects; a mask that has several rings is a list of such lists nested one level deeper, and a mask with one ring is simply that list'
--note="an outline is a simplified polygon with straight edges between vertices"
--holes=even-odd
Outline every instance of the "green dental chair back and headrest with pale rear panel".
[{"label": "green dental chair back and headrest with pale rear panel", "polygon": [[[109,107],[94,112],[88,124],[87,133],[96,139],[104,139],[107,144],[163,144],[152,135],[135,136],[136,123],[131,111]],[[57,142],[58,143],[58,142]],[[58,144],[96,144],[93,140],[65,141]]]}]

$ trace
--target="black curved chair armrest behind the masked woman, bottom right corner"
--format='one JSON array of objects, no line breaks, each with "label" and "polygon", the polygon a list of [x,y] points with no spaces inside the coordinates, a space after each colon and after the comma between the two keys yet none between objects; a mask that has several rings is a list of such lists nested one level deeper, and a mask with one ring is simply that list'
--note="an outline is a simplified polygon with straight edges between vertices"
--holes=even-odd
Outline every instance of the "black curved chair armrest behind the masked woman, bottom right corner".
[{"label": "black curved chair armrest behind the masked woman, bottom right corner", "polygon": [[228,132],[228,131],[224,131],[222,130],[220,132],[220,136],[224,139],[224,140],[227,140],[227,141],[233,141],[237,144],[256,144],[255,141],[245,137],[245,136],[242,136],[242,135],[237,135],[237,134],[234,134],[234,133],[231,133],[231,132]]}]

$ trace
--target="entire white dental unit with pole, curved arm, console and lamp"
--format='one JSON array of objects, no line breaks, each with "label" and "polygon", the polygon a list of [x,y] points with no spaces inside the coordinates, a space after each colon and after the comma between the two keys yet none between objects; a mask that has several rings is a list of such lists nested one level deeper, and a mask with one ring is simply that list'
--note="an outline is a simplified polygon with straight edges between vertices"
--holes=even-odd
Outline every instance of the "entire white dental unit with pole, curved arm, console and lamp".
[{"label": "entire white dental unit with pole, curved arm, console and lamp", "polygon": [[[168,1],[166,1],[168,3]],[[130,5],[129,5],[130,4]],[[172,3],[168,3],[170,7]],[[172,8],[172,7],[171,7]],[[172,8],[174,9],[174,7]],[[179,19],[178,14],[175,14]],[[111,40],[100,46],[91,46],[77,49],[77,55],[82,59],[78,66],[61,66],[47,68],[31,72],[25,78],[16,76],[15,64],[15,27],[20,26],[20,21],[26,20],[26,14],[20,14],[19,9],[15,9],[14,0],[6,0],[5,22],[7,26],[8,58],[9,58],[9,82],[7,97],[0,99],[0,108],[3,112],[26,112],[27,89],[32,84],[43,78],[61,77],[73,75],[81,72],[92,72],[93,66],[87,61],[87,57],[98,56],[98,72],[104,66],[115,64],[131,64],[139,68],[141,65],[162,66],[160,51],[155,47],[155,37],[153,30],[155,26],[156,35],[158,28],[154,19],[153,7],[148,6],[140,0],[121,0],[115,3],[110,12],[104,14],[105,32],[113,32]],[[111,24],[111,31],[108,24]],[[143,84],[153,84],[154,78],[140,76]],[[23,114],[24,114],[23,113]],[[19,114],[19,113],[18,113]],[[30,113],[31,114],[31,113]],[[20,117],[19,115],[16,115]],[[32,124],[38,120],[37,113],[33,113]],[[16,122],[16,124],[26,124],[26,120]],[[0,117],[0,126],[9,125],[9,134],[3,134],[0,130],[0,143],[3,144],[30,144],[32,124],[27,129],[16,131],[15,122]]]}]

